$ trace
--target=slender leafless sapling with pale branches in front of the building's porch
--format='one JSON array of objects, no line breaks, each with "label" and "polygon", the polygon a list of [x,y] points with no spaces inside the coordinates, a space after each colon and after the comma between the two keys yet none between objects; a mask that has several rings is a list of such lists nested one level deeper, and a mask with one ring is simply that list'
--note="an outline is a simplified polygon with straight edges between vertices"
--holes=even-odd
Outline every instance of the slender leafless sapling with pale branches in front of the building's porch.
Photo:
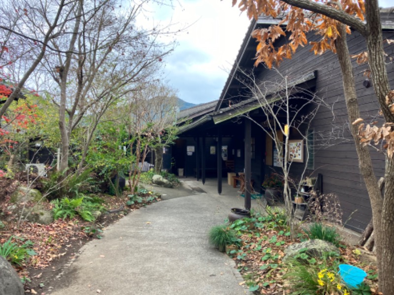
[{"label": "slender leafless sapling with pale branches in front of the building's porch", "polygon": [[[251,93],[249,102],[258,104],[260,110],[266,118],[263,122],[253,118],[249,113],[244,113],[241,117],[246,117],[258,125],[264,133],[271,138],[277,153],[277,167],[281,171],[284,181],[284,200],[288,216],[288,224],[294,236],[294,218],[292,203],[292,186],[296,193],[301,192],[301,181],[294,182],[292,176],[292,166],[295,159],[293,151],[290,150],[289,140],[297,139],[305,143],[304,164],[297,163],[297,178],[302,180],[306,177],[307,163],[312,156],[312,146],[308,146],[307,133],[310,129],[312,119],[321,107],[330,107],[322,98],[313,91],[297,87],[303,77],[296,79],[296,75],[282,74],[275,69],[276,80],[258,80],[253,71],[246,71],[238,67],[236,79]],[[298,81],[298,82],[297,82]],[[300,151],[304,148],[302,145]],[[302,166],[302,167],[301,167]]]}]

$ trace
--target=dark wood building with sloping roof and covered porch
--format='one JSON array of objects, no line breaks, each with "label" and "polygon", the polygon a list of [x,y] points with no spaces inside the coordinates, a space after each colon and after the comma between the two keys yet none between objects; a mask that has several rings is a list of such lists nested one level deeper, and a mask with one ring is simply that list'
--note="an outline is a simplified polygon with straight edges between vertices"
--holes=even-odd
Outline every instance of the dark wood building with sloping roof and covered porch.
[{"label": "dark wood building with sloping roof and covered porch", "polygon": [[[383,38],[394,39],[394,13],[382,10],[381,15]],[[207,176],[218,177],[219,193],[222,177],[227,176],[227,172],[245,171],[246,177],[249,174],[254,180],[254,189],[261,191],[264,177],[276,169],[272,141],[261,127],[242,117],[248,114],[257,122],[267,119],[257,99],[239,78],[242,71],[248,70],[253,71],[254,77],[259,81],[282,79],[277,71],[263,65],[254,68],[256,42],[250,36],[254,29],[269,27],[275,22],[266,18],[252,21],[218,101],[197,106],[186,110],[188,112],[184,111],[185,113],[181,112],[181,117],[187,118],[189,122],[181,127],[179,140],[173,147],[172,155],[176,158],[176,165],[182,166],[178,168],[184,169],[185,176],[202,177],[203,181]],[[320,38],[314,33],[307,37],[309,41],[317,41]],[[286,42],[286,38],[283,37],[277,42],[280,45]],[[352,55],[366,50],[364,38],[356,31],[352,31],[348,36],[348,46]],[[299,48],[292,59],[284,60],[278,67],[279,72],[288,78],[291,86],[308,89],[330,106],[319,109],[311,121],[309,130],[303,131],[305,134],[311,134],[308,141],[316,147],[307,163],[307,174],[319,173],[323,176],[323,193],[333,193],[339,198],[346,227],[361,232],[371,218],[371,209],[349,130],[339,63],[331,52],[316,56],[310,50],[310,46]],[[389,57],[394,57],[393,45],[387,45],[386,50]],[[363,75],[366,68],[367,64],[359,65],[354,61],[361,116],[366,121],[372,121],[378,117],[379,105],[373,85],[365,87],[368,86]],[[387,68],[393,86],[393,61],[388,59]],[[327,136],[320,137],[323,134]],[[378,152],[371,154],[376,176],[382,177],[384,156]],[[297,165],[301,164],[294,163],[292,168],[295,176]]]}]

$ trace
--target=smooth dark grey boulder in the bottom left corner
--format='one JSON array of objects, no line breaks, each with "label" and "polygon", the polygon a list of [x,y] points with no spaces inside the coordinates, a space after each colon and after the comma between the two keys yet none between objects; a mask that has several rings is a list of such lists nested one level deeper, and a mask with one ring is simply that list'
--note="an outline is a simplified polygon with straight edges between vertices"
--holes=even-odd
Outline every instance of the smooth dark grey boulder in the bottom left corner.
[{"label": "smooth dark grey boulder in the bottom left corner", "polygon": [[15,269],[0,256],[0,295],[24,295],[23,284]]}]

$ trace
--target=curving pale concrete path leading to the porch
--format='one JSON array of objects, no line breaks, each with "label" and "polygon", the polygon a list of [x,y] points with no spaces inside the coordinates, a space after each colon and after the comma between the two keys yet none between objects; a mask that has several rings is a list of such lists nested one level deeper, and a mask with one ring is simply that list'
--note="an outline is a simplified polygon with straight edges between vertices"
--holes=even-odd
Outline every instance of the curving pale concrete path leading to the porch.
[{"label": "curving pale concrete path leading to the porch", "polygon": [[243,207],[236,189],[192,179],[163,201],[131,212],[87,243],[53,295],[241,295],[235,263],[208,244],[208,231]]}]

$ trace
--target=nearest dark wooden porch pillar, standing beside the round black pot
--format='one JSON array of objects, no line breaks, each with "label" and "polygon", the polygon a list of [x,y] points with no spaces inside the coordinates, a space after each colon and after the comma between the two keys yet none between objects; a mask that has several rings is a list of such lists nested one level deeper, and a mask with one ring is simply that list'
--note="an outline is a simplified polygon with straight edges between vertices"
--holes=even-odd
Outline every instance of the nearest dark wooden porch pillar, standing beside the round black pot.
[{"label": "nearest dark wooden porch pillar, standing beside the round black pot", "polygon": [[252,175],[252,155],[251,155],[251,144],[252,144],[252,128],[251,121],[245,118],[245,209],[250,210],[251,207],[251,175]]}]

